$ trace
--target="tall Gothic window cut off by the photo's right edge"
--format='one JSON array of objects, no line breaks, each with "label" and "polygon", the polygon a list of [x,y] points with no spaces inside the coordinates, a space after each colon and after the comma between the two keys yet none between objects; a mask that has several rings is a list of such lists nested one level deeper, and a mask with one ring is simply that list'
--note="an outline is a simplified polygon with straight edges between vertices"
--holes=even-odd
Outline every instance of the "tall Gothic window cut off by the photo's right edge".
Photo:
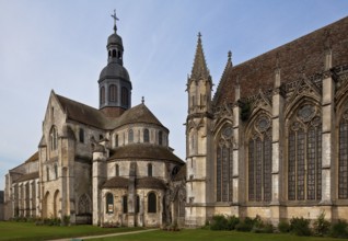
[{"label": "tall Gothic window cut off by the photo's right edge", "polygon": [[348,110],[339,120],[338,131],[338,198],[348,198]]}]

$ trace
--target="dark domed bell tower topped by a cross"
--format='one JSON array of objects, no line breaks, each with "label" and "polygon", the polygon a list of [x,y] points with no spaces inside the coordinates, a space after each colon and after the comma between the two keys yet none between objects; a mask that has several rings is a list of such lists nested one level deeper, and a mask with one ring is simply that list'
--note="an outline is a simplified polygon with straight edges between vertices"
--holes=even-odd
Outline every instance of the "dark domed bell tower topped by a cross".
[{"label": "dark domed bell tower topped by a cross", "polygon": [[127,69],[124,67],[124,45],[117,34],[116,11],[114,33],[107,38],[107,66],[102,70],[100,85],[100,110],[109,117],[118,117],[131,106],[131,82]]}]

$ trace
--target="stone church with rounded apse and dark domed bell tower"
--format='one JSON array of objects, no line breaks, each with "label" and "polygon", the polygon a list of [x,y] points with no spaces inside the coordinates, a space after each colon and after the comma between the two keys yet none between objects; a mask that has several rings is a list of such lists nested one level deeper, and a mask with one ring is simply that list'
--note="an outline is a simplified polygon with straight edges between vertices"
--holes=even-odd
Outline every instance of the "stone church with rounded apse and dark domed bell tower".
[{"label": "stone church with rounded apse and dark domed bell tower", "polygon": [[5,176],[5,219],[69,216],[72,223],[129,227],[159,227],[174,217],[183,222],[185,162],[143,100],[131,107],[116,15],[106,48],[100,108],[51,91],[38,151]]}]

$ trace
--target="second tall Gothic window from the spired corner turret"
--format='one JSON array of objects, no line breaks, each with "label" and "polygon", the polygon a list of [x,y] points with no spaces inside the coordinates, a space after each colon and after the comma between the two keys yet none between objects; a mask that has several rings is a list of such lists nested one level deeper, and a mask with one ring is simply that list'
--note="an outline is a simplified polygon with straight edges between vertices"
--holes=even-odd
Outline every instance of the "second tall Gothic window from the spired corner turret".
[{"label": "second tall Gothic window from the spired corner turret", "polygon": [[271,199],[271,120],[262,115],[248,140],[248,200]]}]

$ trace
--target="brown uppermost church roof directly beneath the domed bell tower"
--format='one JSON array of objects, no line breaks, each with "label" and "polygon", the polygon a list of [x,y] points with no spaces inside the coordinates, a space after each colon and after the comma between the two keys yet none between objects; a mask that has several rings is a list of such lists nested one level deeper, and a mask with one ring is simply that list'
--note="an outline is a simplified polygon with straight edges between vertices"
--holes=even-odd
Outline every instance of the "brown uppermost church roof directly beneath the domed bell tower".
[{"label": "brown uppermost church roof directly beneath the domed bell tower", "polygon": [[62,110],[68,115],[68,119],[100,129],[114,129],[123,125],[136,123],[154,124],[165,128],[144,104],[136,105],[124,112],[121,116],[113,118],[106,117],[104,113],[97,108],[58,94],[56,94],[56,96],[61,104]]}]

